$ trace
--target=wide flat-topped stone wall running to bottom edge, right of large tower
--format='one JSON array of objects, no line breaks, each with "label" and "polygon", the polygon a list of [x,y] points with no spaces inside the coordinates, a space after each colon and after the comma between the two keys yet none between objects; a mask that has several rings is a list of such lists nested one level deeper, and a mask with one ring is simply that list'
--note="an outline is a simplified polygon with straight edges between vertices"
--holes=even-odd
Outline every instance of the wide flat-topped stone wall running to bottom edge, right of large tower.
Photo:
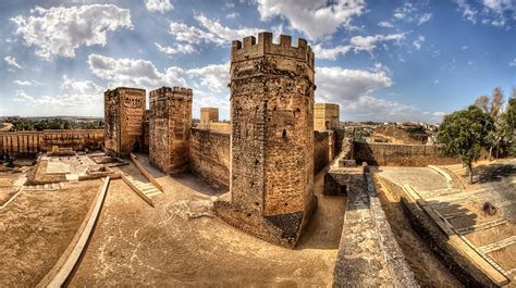
[{"label": "wide flat-topped stone wall running to bottom edge, right of large tower", "polygon": [[333,287],[419,287],[365,172],[347,193]]}]

